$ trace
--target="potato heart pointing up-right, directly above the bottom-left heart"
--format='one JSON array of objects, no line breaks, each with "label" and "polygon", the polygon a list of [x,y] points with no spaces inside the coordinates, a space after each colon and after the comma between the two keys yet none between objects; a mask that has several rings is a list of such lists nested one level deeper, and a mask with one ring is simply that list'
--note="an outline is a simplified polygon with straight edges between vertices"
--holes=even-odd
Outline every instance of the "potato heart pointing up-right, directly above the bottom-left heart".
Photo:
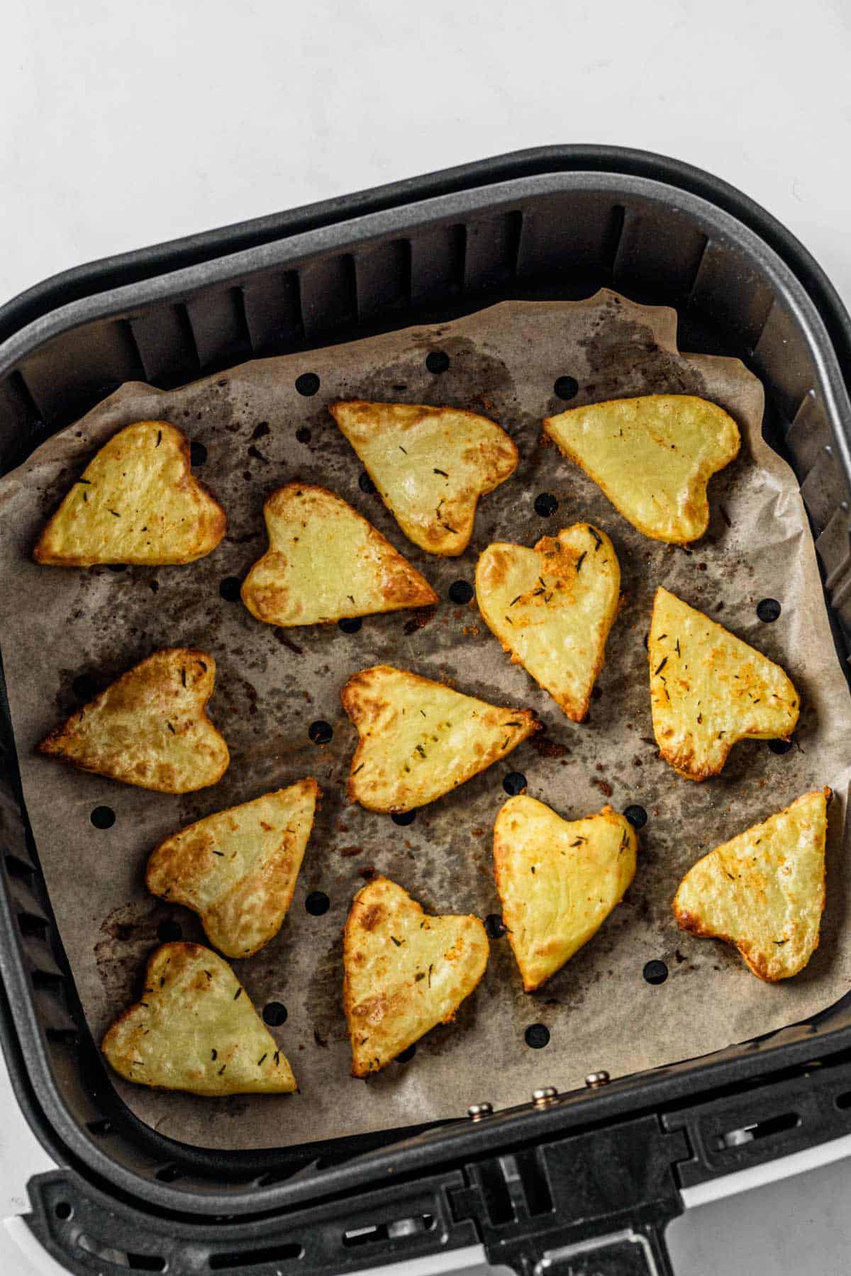
[{"label": "potato heart pointing up-right, directly above the bottom-left heart", "polygon": [[300,780],[166,837],[148,860],[148,889],[199,914],[226,957],[250,957],[287,915],[320,795]]}]

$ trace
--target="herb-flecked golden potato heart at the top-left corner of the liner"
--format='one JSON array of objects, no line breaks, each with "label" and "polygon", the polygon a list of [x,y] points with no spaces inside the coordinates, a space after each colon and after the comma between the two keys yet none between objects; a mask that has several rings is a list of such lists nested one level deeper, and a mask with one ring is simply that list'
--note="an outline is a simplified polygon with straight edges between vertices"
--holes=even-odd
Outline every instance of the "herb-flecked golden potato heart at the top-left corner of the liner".
[{"label": "herb-flecked golden potato heart at the top-left corner of the liner", "polygon": [[226,527],[225,510],[193,477],[182,431],[137,421],[89,461],[33,558],[52,567],[193,563],[216,549]]}]

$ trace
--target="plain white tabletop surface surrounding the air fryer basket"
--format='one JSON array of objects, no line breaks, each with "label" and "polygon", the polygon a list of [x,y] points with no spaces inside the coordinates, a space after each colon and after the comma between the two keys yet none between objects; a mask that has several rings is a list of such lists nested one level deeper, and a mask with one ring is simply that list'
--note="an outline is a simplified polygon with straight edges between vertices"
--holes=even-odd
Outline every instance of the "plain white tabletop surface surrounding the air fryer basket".
[{"label": "plain white tabletop surface surrounding the air fryer basket", "polygon": [[[846,0],[29,0],[0,19],[0,302],[82,262],[521,147],[740,186],[851,305]],[[1,1069],[0,1069],[1,1071]],[[0,1215],[46,1164],[0,1076]],[[851,1162],[690,1211],[677,1276],[838,1276]],[[4,1252],[8,1248],[8,1253]],[[0,1233],[0,1270],[29,1266]]]}]

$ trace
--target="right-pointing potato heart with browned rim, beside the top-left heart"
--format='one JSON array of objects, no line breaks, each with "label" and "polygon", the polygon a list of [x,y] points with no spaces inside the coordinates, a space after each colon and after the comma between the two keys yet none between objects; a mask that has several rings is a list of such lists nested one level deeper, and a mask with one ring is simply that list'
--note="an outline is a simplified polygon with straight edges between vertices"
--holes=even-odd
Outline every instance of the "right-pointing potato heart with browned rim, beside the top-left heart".
[{"label": "right-pointing potato heart with browned rim, beside the top-left heart", "polygon": [[263,513],[269,547],[242,584],[258,620],[315,625],[439,602],[425,577],[325,487],[287,484]]}]

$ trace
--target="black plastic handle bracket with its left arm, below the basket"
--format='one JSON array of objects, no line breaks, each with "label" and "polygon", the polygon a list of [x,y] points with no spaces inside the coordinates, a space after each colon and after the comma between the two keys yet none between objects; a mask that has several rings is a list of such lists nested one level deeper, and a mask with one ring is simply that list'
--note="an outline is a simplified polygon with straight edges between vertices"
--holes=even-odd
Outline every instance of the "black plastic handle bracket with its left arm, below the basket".
[{"label": "black plastic handle bracket with its left arm, below the basket", "polygon": [[518,1276],[672,1276],[665,1229],[683,1212],[674,1166],[686,1155],[681,1131],[638,1116],[267,1216],[259,1229],[251,1219],[166,1221],[64,1166],[31,1179],[26,1222],[75,1276],[260,1266],[337,1276],[477,1243]]}]

